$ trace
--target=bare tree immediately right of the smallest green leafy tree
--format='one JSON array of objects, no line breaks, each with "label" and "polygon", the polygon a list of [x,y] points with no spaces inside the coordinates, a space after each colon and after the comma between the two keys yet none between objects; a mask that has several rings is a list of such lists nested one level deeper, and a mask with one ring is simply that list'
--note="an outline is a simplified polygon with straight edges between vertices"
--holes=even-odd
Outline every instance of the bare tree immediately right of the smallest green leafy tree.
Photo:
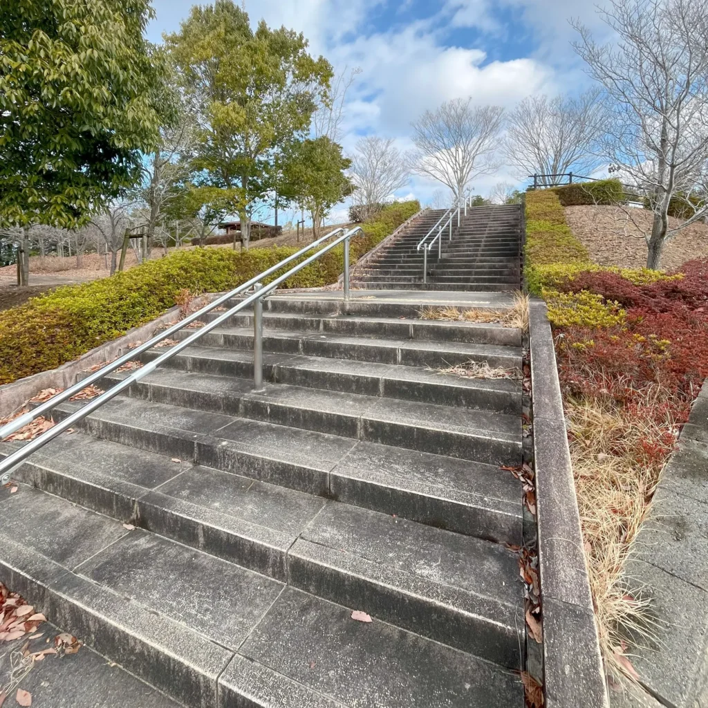
[{"label": "bare tree immediately right of the smallest green leafy tree", "polygon": [[350,178],[358,189],[355,200],[364,207],[362,217],[408,184],[410,176],[411,156],[394,147],[392,138],[362,137],[350,166]]}]

